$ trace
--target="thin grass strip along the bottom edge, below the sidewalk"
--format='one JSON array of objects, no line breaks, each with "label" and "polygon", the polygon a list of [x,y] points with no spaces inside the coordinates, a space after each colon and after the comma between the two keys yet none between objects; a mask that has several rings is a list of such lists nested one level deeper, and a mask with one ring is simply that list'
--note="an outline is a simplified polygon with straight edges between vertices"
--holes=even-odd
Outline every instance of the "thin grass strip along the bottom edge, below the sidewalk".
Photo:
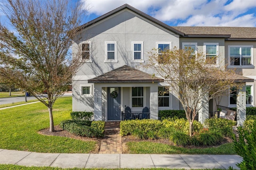
[{"label": "thin grass strip along the bottom edge, below the sidewalk", "polygon": [[[0,169],[4,170],[184,170],[184,169],[169,169],[169,168],[140,168],[140,169],[134,169],[134,168],[118,168],[118,169],[106,169],[106,168],[53,168],[53,167],[26,167],[26,166],[19,166],[19,165],[1,165]],[[192,170],[202,170],[202,169],[192,169]],[[223,169],[204,169],[204,170],[223,170]]]}]

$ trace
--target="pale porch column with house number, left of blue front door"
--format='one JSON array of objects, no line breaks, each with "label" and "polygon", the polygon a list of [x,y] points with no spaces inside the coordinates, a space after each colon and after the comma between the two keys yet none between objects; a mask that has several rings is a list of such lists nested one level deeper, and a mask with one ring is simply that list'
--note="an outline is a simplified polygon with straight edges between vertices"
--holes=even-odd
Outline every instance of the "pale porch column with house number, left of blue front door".
[{"label": "pale porch column with house number, left of blue front door", "polygon": [[94,120],[102,121],[102,87],[94,83]]}]

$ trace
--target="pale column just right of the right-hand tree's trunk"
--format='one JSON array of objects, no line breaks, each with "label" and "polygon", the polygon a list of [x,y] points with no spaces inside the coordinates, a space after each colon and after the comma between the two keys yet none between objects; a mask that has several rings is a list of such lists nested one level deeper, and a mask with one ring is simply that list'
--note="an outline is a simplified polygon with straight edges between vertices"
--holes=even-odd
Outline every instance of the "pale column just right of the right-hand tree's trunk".
[{"label": "pale column just right of the right-hand tree's trunk", "polygon": [[201,101],[198,103],[198,107],[202,107],[198,111],[198,121],[202,124],[206,119],[209,119],[209,93],[207,92],[201,99]]}]

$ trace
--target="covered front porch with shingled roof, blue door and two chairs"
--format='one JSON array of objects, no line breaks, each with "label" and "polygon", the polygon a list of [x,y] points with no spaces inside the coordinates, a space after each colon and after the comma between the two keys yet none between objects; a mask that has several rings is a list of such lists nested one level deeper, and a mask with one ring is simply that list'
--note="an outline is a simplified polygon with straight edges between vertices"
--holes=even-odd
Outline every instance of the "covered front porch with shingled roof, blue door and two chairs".
[{"label": "covered front porch with shingled roof, blue door and two chairs", "polygon": [[163,81],[127,65],[88,80],[94,83],[94,119],[158,119],[158,83]]}]

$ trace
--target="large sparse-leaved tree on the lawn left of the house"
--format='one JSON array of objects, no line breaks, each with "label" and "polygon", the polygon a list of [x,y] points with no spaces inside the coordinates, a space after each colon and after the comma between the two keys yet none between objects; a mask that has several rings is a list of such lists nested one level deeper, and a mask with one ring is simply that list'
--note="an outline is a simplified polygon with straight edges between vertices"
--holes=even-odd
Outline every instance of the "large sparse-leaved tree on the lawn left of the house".
[{"label": "large sparse-leaved tree on the lawn left of the house", "polygon": [[1,67],[0,74],[48,107],[53,132],[52,107],[82,64],[79,52],[72,58],[70,46],[86,10],[79,0],[6,0],[1,5],[11,26],[1,20],[0,62],[18,72]]}]

